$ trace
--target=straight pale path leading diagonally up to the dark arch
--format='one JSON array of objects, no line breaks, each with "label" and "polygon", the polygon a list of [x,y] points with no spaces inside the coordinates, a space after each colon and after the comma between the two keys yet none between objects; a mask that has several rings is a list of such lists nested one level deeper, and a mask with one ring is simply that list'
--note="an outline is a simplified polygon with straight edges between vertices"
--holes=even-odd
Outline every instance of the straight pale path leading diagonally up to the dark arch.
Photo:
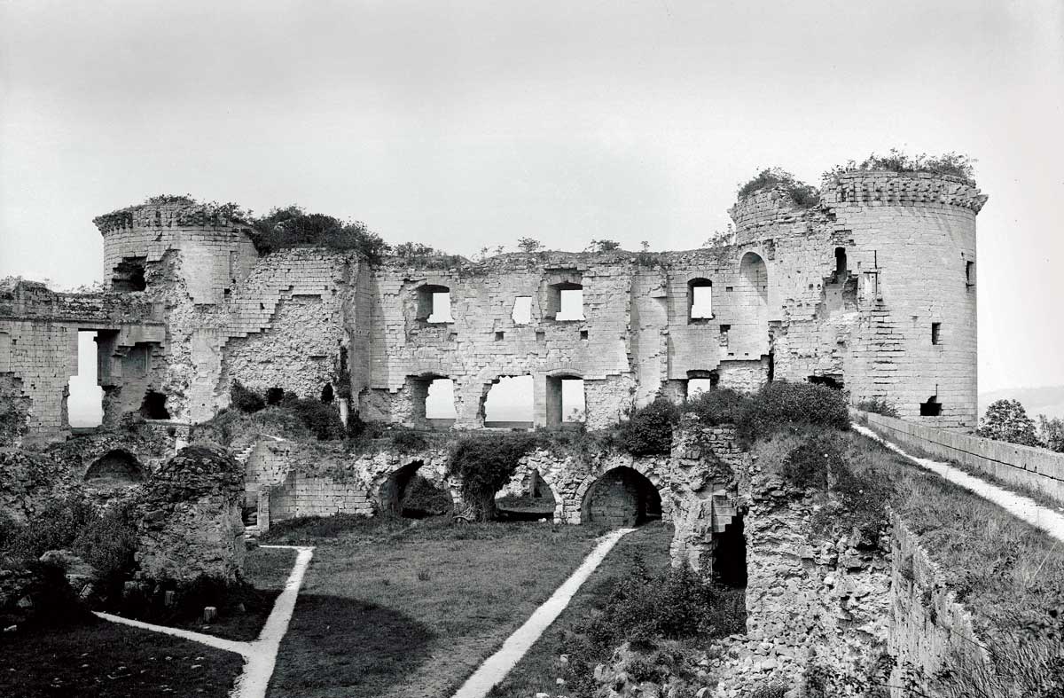
[{"label": "straight pale path leading diagonally up to the dark arch", "polygon": [[513,635],[502,643],[502,647],[492,654],[466,682],[462,684],[454,698],[484,698],[492,687],[501,681],[516,666],[535,641],[539,639],[550,624],[554,622],[562,611],[569,605],[573,595],[587,581],[591,574],[599,566],[606,553],[613,549],[620,538],[635,529],[617,529],[599,539],[599,544],[591,551],[577,570],[562,583],[558,589],[536,609],[529,619],[518,628]]}]

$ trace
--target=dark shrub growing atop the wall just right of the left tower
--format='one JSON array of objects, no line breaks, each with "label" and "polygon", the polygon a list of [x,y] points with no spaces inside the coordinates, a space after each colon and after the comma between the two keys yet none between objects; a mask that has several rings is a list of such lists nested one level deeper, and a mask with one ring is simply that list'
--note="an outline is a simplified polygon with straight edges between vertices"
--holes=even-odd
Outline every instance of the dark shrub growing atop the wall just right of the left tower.
[{"label": "dark shrub growing atop the wall just right of the left tower", "polygon": [[390,246],[366,223],[343,221],[320,213],[306,213],[292,205],[273,209],[268,215],[252,221],[255,249],[268,254],[290,247],[327,247],[334,250],[353,250],[371,263],[380,262]]}]

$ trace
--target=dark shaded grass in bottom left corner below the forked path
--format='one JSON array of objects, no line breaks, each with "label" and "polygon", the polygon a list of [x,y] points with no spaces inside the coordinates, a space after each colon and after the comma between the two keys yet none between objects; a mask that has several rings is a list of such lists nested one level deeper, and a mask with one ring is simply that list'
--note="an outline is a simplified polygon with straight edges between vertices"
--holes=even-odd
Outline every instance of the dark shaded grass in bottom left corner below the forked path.
[{"label": "dark shaded grass in bottom left corner below the forked path", "polygon": [[4,698],[223,698],[243,667],[238,654],[104,620],[0,634]]}]

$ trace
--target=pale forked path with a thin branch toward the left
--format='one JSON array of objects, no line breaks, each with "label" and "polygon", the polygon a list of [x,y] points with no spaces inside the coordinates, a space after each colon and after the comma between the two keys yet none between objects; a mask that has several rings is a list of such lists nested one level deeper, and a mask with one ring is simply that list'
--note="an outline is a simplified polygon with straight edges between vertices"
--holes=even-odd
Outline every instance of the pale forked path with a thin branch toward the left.
[{"label": "pale forked path with a thin branch toward the left", "polygon": [[288,574],[288,579],[284,583],[284,591],[273,602],[273,609],[266,618],[259,638],[254,642],[245,643],[235,639],[225,639],[205,633],[181,630],[180,628],[167,628],[150,622],[131,620],[121,616],[113,616],[110,613],[97,613],[104,620],[133,626],[144,630],[152,630],[174,637],[183,637],[197,643],[202,643],[210,647],[216,647],[230,652],[236,652],[245,658],[244,672],[237,677],[230,692],[231,698],[265,698],[266,688],[269,687],[269,679],[273,675],[273,665],[277,663],[277,651],[281,647],[281,639],[288,631],[288,624],[292,621],[292,614],[296,610],[296,599],[299,597],[299,587],[303,584],[303,575],[311,564],[314,555],[314,548],[302,546],[261,546],[263,548],[284,548],[296,551],[296,564]]}]

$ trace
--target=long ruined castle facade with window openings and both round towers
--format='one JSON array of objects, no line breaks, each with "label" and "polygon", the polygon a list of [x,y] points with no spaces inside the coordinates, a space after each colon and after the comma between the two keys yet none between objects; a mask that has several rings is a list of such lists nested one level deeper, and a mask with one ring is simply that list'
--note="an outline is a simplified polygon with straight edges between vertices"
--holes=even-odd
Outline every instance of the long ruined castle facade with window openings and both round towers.
[{"label": "long ruined castle facade with window openings and both round towers", "polygon": [[[19,438],[62,437],[77,331],[97,330],[105,423],[149,393],[170,419],[202,421],[239,380],[300,397],[328,384],[364,419],[439,427],[425,397],[450,379],[455,417],[443,426],[475,429],[495,382],[530,376],[528,426],[562,423],[564,380],[582,379],[595,429],[654,395],[682,399],[691,380],[752,389],[785,379],[974,427],[985,197],[948,177],[866,171],[828,182],[822,197],[803,209],[783,189],[754,193],[732,209],[735,238],[722,247],[476,264],[371,265],[310,248],[260,256],[222,210],[133,206],[96,219],[110,293],[0,292],[0,390],[23,415]],[[572,292],[578,310],[563,313]],[[443,294],[449,316],[434,316]]]}]

